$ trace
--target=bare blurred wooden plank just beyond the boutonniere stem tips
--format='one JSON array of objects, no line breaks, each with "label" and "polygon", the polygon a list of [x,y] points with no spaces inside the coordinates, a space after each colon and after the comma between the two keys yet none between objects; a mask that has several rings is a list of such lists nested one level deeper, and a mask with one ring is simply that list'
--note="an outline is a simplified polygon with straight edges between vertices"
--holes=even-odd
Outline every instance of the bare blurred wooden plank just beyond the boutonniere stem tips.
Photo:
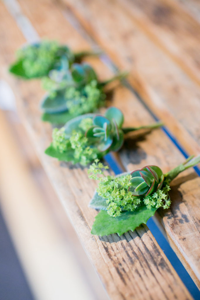
[{"label": "bare blurred wooden plank just beyond the boutonniere stem tips", "polygon": [[184,142],[187,152],[199,153],[200,89],[196,83],[141,32],[118,2],[63,1],[115,63],[130,70],[135,89],[145,90],[146,103]]}]

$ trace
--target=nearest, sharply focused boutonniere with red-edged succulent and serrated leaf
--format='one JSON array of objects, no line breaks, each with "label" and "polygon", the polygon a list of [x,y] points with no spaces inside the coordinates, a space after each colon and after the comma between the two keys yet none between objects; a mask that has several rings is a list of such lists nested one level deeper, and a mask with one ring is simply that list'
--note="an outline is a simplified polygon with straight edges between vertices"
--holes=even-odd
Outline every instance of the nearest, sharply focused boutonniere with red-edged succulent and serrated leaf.
[{"label": "nearest, sharply focused boutonniere with red-edged succulent and serrated leaf", "polygon": [[200,156],[191,156],[166,174],[157,166],[146,166],[114,177],[105,176],[103,171],[108,167],[95,160],[88,174],[100,182],[89,206],[100,209],[100,212],[95,217],[91,233],[122,235],[128,230],[134,231],[142,223],[146,224],[158,208],[170,207],[170,182],[199,162]]}]

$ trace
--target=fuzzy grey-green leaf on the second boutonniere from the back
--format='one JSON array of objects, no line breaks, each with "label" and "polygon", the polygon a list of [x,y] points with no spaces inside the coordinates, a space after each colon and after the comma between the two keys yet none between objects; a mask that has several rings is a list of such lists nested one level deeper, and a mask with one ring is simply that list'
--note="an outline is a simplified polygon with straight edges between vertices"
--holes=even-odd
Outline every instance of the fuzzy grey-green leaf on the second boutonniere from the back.
[{"label": "fuzzy grey-green leaf on the second boutonniere from the back", "polygon": [[45,113],[60,113],[67,110],[67,100],[64,97],[65,90],[56,92],[55,97],[45,95],[41,101],[40,107]]}]

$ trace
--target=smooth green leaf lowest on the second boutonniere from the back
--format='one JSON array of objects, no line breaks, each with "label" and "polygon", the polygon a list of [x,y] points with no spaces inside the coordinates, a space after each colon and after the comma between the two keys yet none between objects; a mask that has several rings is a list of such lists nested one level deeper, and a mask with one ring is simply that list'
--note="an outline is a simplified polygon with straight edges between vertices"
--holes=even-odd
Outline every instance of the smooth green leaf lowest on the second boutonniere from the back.
[{"label": "smooth green leaf lowest on the second boutonniere from the back", "polygon": [[49,122],[55,125],[64,125],[73,118],[74,116],[70,115],[68,111],[66,111],[63,113],[43,113],[41,119],[44,122]]}]

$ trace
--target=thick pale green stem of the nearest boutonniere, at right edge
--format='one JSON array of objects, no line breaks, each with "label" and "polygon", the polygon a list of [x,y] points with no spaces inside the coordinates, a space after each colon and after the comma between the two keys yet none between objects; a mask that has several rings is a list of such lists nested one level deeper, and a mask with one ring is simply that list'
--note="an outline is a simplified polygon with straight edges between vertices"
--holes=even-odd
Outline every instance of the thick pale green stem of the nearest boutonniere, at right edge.
[{"label": "thick pale green stem of the nearest boutonniere, at right edge", "polygon": [[197,164],[200,163],[200,155],[194,157],[194,155],[191,155],[187,160],[178,165],[176,168],[170,170],[168,173],[166,173],[165,179],[169,180],[171,182],[176,176],[178,176],[179,173],[183,172],[184,170],[187,170],[190,167],[195,167]]}]

